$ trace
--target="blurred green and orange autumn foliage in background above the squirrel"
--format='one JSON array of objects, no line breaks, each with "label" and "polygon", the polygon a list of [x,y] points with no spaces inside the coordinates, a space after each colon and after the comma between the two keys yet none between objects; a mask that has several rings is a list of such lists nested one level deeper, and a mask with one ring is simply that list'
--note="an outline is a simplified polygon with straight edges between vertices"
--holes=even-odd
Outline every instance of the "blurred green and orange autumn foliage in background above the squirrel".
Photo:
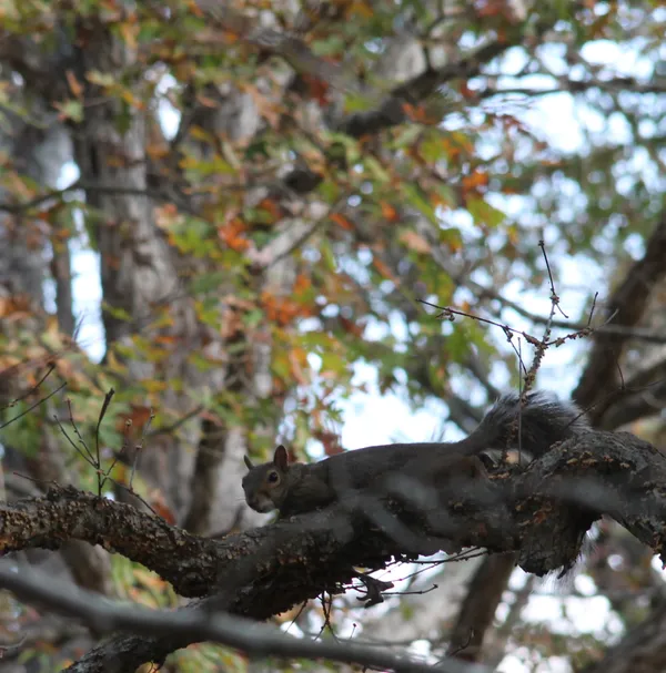
[{"label": "blurred green and orange autumn foliage in background above the squirrel", "polygon": [[[418,299],[501,318],[505,313],[494,295],[466,287],[467,279],[492,293],[512,282],[547,297],[542,237],[561,293],[567,284],[561,255],[584,259],[610,278],[664,207],[666,12],[659,2],[551,0],[535,4],[524,20],[513,16],[508,0],[335,0],[317,11],[304,2],[296,13],[287,3],[233,4],[256,26],[293,28],[312,54],[342,64],[360,85],[341,90],[316,73],[295,72],[270,50],[211,21],[192,0],[10,0],[0,7],[1,39],[27,52],[54,57],[63,49],[94,49],[88,41],[94,23],[134,54],[127,68],[59,73],[67,82],[52,101],[59,121],[75,137],[87,106],[95,104],[92,91],[119,103],[113,121],[120,134],[139,116],[154,124],[144,147],[155,171],[148,195],[155,226],[183,262],[183,293],[198,323],[225,337],[242,332],[244,344],[272,344],[273,394],[250,399],[232,388],[160,377],[182,345],[168,334],[155,339],[145,333],[173,324],[169,302],[155,304],[142,324],[107,303],[109,315],[131,325],[130,337],[109,344],[98,364],[84,355],[90,344],[80,351],[59,334],[53,316],[40,317],[36,328],[33,307],[1,296],[0,371],[18,367],[26,390],[54,359],[40,395],[67,381],[73,420],[87,438],[94,436],[100,400],[113,387],[112,410],[100,428],[104,447],[139,441],[151,410],[151,430],[178,426],[182,411],[164,406],[167,388],[189,396],[192,409],[201,406],[209,417],[246,428],[258,453],[272,448],[253,431],[266,418],[289,429],[297,451],[315,438],[331,452],[339,448],[332,430],[341,422],[339,402],[359,389],[353,374],[361,363],[376,368],[382,392],[403,392],[418,405],[451,391],[453,375],[474,381],[472,355],[493,375],[501,363],[502,375],[515,379],[515,358],[506,356],[501,330],[470,320],[442,323]],[[355,137],[340,131],[342,124],[320,123],[326,114],[349,119],[375,110],[397,85],[385,58],[405,38],[421,53],[427,50],[433,69],[487,42],[505,49],[483,74],[467,78],[462,69],[434,94],[402,101],[405,121],[376,134]],[[14,115],[39,125],[32,82],[19,70],[12,53],[0,49],[6,130]],[[259,115],[250,137],[212,133],[196,116],[192,121],[193,110],[221,105],[221,91],[226,100],[250,96]],[[185,137],[167,129],[173,119],[189,121]],[[285,175],[293,182],[283,184]],[[81,190],[85,179],[77,185]],[[249,194],[264,187],[252,203]],[[8,226],[33,228],[36,254],[44,233],[53,251],[74,244],[100,251],[97,225],[104,213],[80,190],[51,191],[7,153],[0,154],[0,188]],[[296,220],[311,226],[285,253],[293,261],[292,288],[273,294],[258,282],[258,256],[284,235],[285,222],[295,226]],[[581,316],[599,289],[584,288]],[[246,363],[246,345],[234,353],[230,338],[228,346],[241,366]],[[130,359],[153,364],[154,376],[130,377]],[[219,365],[201,349],[188,360],[201,371]],[[6,418],[34,399],[13,405]],[[71,434],[65,407],[58,414]],[[40,407],[4,428],[2,441],[36,455],[48,425],[62,441],[68,470],[94,490],[97,478],[61,438],[52,415]],[[173,435],[179,432],[176,427]],[[104,459],[109,465],[111,455]],[[137,489],[152,499],[141,482]],[[127,599],[173,603],[168,584],[127,561],[114,561],[114,581]],[[545,649],[557,650],[552,642]],[[181,671],[233,670],[238,662],[229,656],[201,645],[174,660]]]}]

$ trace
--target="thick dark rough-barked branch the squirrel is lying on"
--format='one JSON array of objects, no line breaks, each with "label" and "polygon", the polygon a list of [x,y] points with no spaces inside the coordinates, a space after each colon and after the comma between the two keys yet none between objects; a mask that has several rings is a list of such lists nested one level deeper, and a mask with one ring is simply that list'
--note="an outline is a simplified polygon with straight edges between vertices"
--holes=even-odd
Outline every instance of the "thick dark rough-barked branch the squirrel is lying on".
[{"label": "thick dark rough-barked branch the squirrel is lying on", "polygon": [[[100,543],[147,564],[185,595],[213,595],[225,612],[263,620],[322,591],[342,591],[354,578],[354,565],[379,569],[440,549],[515,551],[523,569],[536,574],[567,568],[599,513],[666,558],[664,485],[666,457],[652,445],[625,432],[589,432],[517,475],[476,478],[442,493],[438,502],[407,485],[406,492],[423,494],[428,503],[418,504],[418,514],[395,498],[380,503],[350,494],[327,510],[216,542],[68,488],[4,504],[0,540],[3,551],[54,548],[71,538]],[[142,656],[159,659],[165,653],[160,647],[170,652],[184,644],[155,642],[157,653],[148,655],[145,643],[122,636],[94,656],[102,665],[139,647]]]}]

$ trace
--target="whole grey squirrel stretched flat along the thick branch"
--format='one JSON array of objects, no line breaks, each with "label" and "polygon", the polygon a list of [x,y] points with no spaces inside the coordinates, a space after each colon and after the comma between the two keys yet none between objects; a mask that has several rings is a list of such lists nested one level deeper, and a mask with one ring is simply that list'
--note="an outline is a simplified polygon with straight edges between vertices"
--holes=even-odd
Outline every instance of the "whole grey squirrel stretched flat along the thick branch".
[{"label": "whole grey squirrel stretched flat along the thick branch", "polygon": [[403,475],[435,479],[437,486],[442,477],[486,475],[477,458],[482,452],[519,449],[541,458],[554,443],[588,429],[581,410],[553,394],[528,392],[522,401],[509,392],[500,397],[476,430],[461,441],[374,446],[310,465],[290,465],[286,449],[280,445],[271,462],[254,466],[244,457],[249,471],[242,486],[253,510],[278,509],[281,517],[290,517],[326,507],[345,492],[376,489]]}]

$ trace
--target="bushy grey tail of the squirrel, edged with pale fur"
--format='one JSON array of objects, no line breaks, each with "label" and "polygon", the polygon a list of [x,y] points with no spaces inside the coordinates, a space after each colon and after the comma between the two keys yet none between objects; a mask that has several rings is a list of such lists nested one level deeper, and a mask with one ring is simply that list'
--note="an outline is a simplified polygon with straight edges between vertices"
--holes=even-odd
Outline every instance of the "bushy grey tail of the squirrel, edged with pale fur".
[{"label": "bushy grey tail of the squirrel, edged with pale fur", "polygon": [[516,392],[503,395],[480,426],[463,440],[464,452],[519,449],[541,458],[555,442],[589,429],[581,409],[553,392],[528,392],[525,404]]}]

